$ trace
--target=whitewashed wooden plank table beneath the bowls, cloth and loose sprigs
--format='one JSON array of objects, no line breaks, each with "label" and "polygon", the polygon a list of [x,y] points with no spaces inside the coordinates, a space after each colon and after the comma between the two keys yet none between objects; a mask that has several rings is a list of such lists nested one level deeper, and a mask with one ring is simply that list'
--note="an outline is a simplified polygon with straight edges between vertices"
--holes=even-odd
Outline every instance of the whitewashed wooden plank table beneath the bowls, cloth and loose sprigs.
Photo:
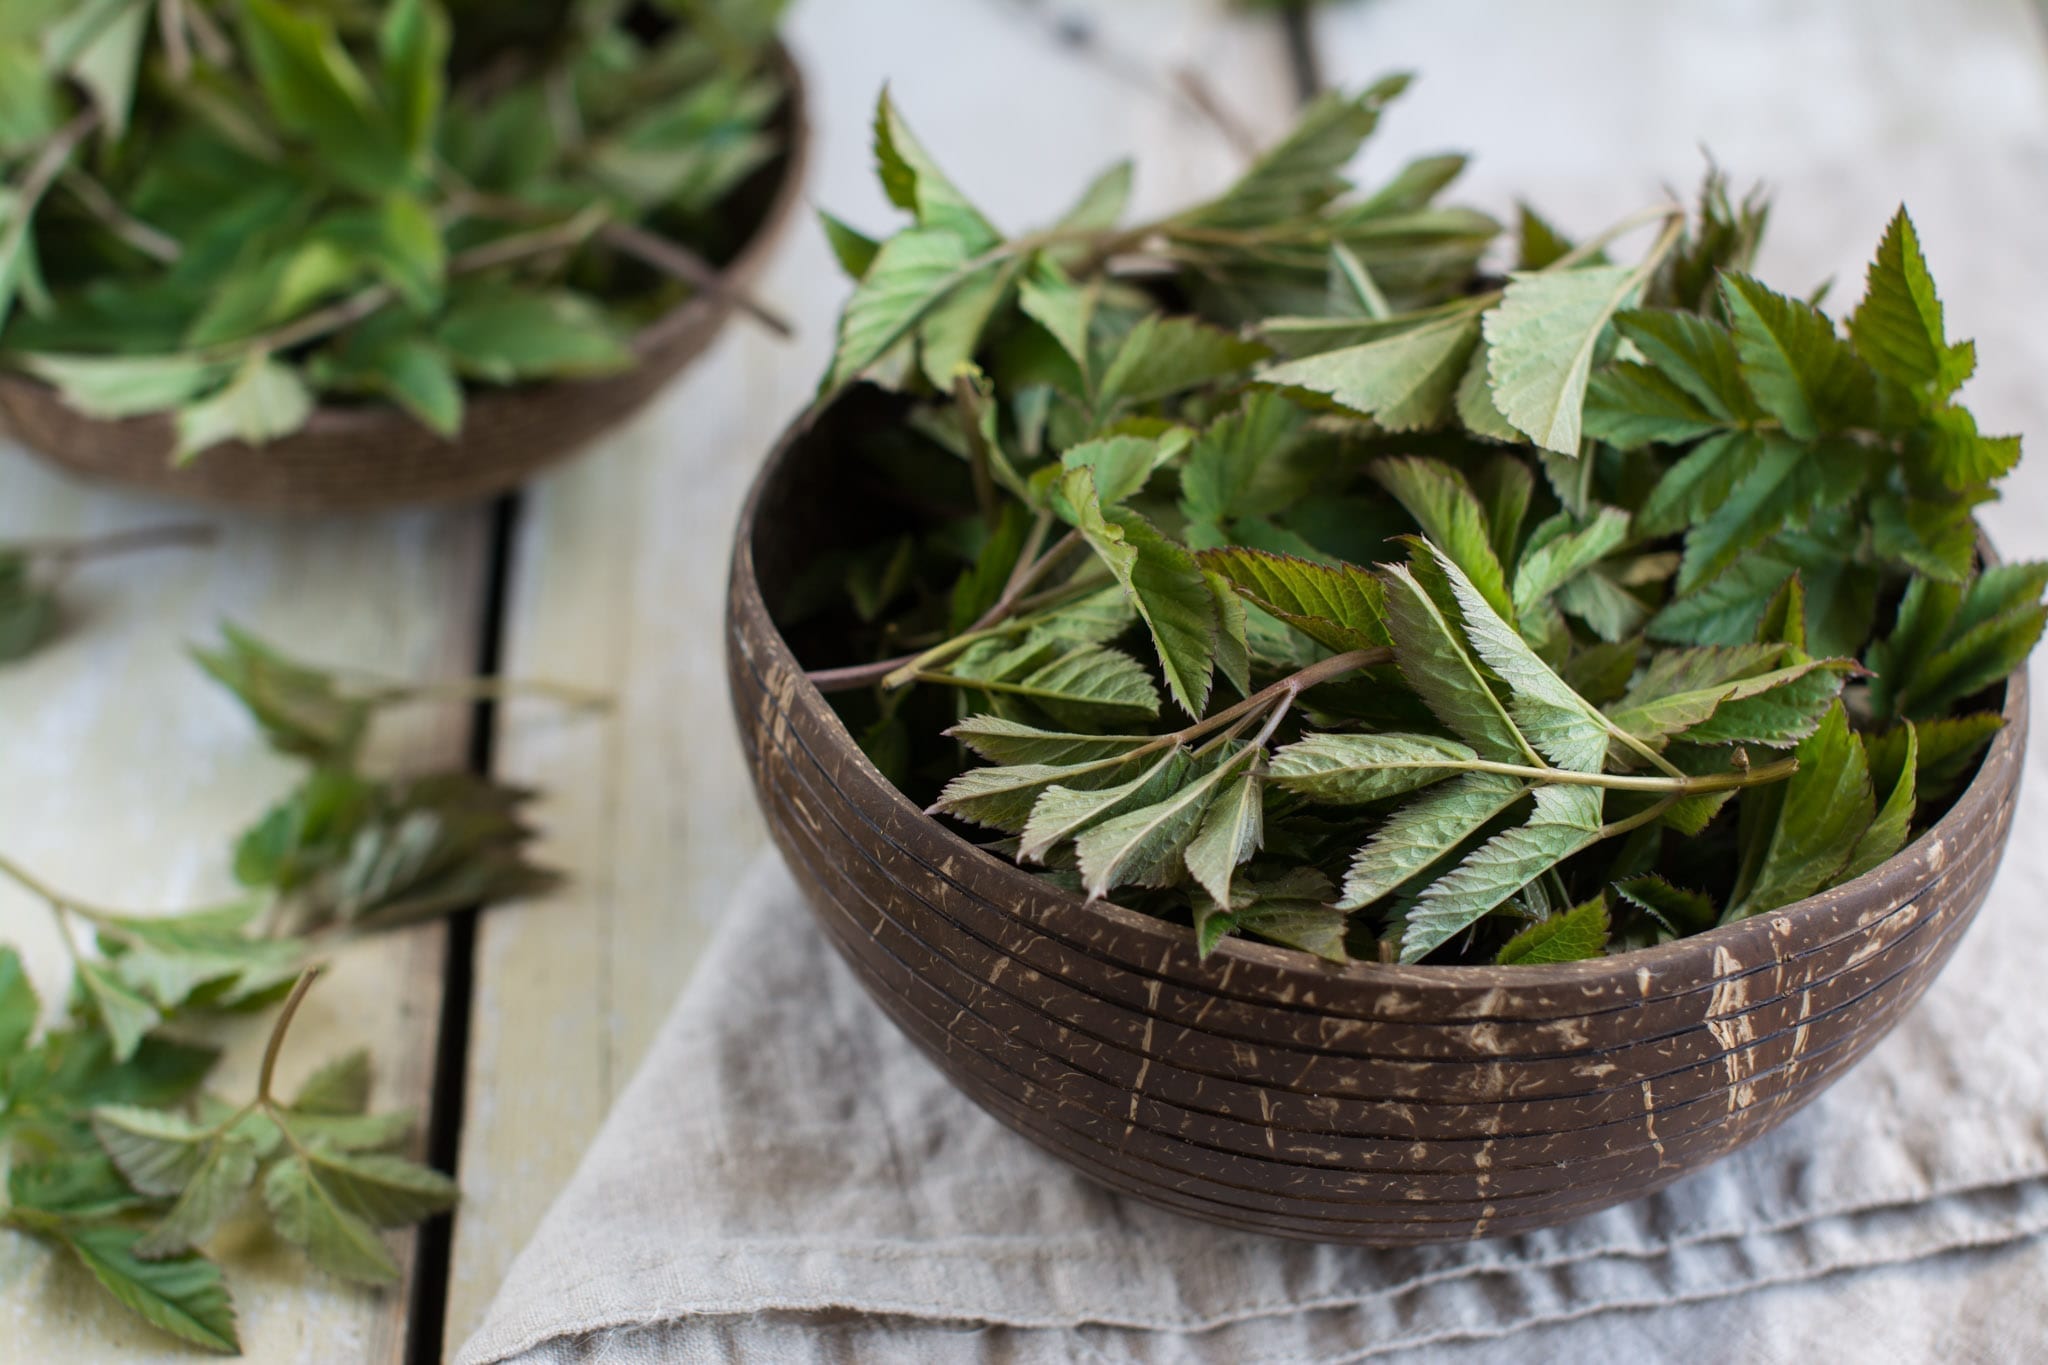
[{"label": "whitewashed wooden plank table beneath the bowls, cloth and loose sprigs", "polygon": [[[1366,174],[1466,149],[1466,194],[1516,192],[1591,231],[1690,190],[1712,145],[1778,188],[1763,270],[1860,293],[1896,201],[1911,203],[1952,332],[1982,342],[1972,389],[1999,430],[2048,434],[2048,45],[2030,0],[1360,0],[1309,23],[1221,0],[803,0],[791,45],[817,143],[809,196],[868,229],[868,113],[889,80],[940,164],[1012,229],[1051,217],[1090,174],[1139,158],[1137,213],[1221,186],[1231,139],[1178,84],[1194,70],[1257,137],[1303,84],[1409,68]],[[256,1361],[432,1361],[489,1304],[567,1181],[676,993],[762,829],[731,737],[721,661],[725,557],[741,493],[805,401],[846,295],[799,223],[762,297],[780,344],[735,325],[668,395],[582,460],[500,508],[328,524],[213,518],[211,551],[106,565],[68,591],[72,620],[0,669],[0,851],[113,905],[190,905],[227,888],[225,839],[287,784],[233,706],[182,657],[215,620],[334,663],[451,677],[477,667],[610,692],[606,720],[512,706],[479,733],[459,708],[379,729],[393,761],[489,763],[545,790],[547,898],[352,948],[297,1038],[365,1044],[377,1101],[430,1113],[430,1152],[465,1201],[403,1244],[408,1287],[305,1275],[258,1232],[229,1232]],[[2017,477],[2048,505],[2048,458]],[[2011,503],[2009,503],[2011,505]],[[63,483],[0,446],[0,538],[182,518]],[[2048,534],[2007,508],[1993,532]],[[481,741],[481,743],[479,743]],[[0,888],[0,941],[45,997],[61,950],[39,907]],[[260,1027],[223,1085],[246,1085]],[[309,1066],[313,1050],[293,1060]],[[289,1070],[291,1066],[287,1066]],[[428,1146],[422,1146],[428,1150]],[[0,1361],[190,1359],[111,1312],[84,1273],[0,1234]]]}]

